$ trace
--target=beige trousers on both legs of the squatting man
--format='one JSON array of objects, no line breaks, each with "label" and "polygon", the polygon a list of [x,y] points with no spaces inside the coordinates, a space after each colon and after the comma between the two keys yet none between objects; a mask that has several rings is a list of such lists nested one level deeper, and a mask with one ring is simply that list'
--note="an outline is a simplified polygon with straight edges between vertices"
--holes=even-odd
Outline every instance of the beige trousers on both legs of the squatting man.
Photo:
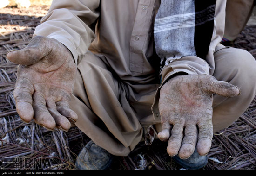
[{"label": "beige trousers on both legs of the squatting man", "polygon": [[[214,95],[216,132],[238,119],[256,95],[256,61],[249,52],[230,47],[217,47],[214,57],[213,76],[242,91],[234,98]],[[154,121],[151,112],[158,86],[120,80],[102,57],[89,51],[78,65],[71,99],[79,117],[75,125],[110,153],[127,156],[143,139],[143,126],[155,125],[161,130],[160,121]]]}]

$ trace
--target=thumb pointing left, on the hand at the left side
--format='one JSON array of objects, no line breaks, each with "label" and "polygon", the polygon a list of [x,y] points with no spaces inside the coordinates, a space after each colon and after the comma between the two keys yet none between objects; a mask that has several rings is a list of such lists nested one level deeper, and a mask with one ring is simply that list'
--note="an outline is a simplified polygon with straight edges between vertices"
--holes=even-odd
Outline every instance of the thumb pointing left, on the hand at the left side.
[{"label": "thumb pointing left, on the hand at the left side", "polygon": [[32,65],[37,63],[41,58],[47,56],[51,51],[45,40],[45,37],[36,36],[31,39],[26,48],[9,51],[7,53],[7,58],[11,62],[20,65]]}]

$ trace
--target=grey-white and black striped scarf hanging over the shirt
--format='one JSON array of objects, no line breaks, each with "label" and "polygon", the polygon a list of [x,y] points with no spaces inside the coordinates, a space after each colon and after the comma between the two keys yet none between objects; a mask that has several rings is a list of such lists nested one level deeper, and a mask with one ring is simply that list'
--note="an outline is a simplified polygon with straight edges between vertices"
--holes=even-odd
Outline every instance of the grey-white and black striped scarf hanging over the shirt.
[{"label": "grey-white and black striped scarf hanging over the shirt", "polygon": [[185,56],[205,59],[214,31],[216,0],[161,0],[155,50],[162,67]]}]

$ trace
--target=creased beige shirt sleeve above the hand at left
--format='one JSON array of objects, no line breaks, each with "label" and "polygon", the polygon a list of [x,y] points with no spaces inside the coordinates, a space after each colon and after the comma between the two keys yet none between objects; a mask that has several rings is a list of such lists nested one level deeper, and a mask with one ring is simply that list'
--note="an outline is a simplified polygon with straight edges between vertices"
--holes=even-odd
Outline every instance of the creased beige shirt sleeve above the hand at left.
[{"label": "creased beige shirt sleeve above the hand at left", "polygon": [[99,17],[100,0],[54,0],[34,36],[55,38],[72,53],[77,64],[95,38],[93,27]]}]

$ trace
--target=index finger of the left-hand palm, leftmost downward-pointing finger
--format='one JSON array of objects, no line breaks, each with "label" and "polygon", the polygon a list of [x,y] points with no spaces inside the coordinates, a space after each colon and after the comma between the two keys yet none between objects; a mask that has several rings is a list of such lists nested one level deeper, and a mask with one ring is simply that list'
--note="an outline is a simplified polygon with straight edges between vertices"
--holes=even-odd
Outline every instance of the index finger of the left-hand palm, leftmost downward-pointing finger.
[{"label": "index finger of the left-hand palm, leftmost downward-pointing finger", "polygon": [[20,77],[13,90],[13,97],[16,103],[17,113],[25,122],[30,122],[33,119],[34,110],[32,107],[32,94],[34,87],[29,79]]}]

